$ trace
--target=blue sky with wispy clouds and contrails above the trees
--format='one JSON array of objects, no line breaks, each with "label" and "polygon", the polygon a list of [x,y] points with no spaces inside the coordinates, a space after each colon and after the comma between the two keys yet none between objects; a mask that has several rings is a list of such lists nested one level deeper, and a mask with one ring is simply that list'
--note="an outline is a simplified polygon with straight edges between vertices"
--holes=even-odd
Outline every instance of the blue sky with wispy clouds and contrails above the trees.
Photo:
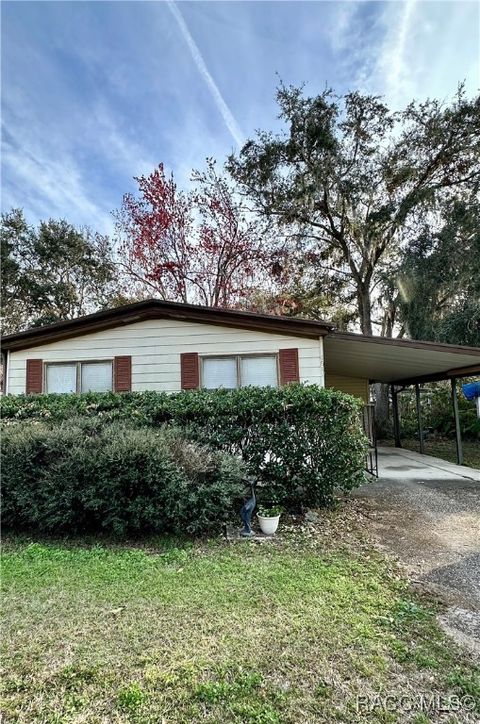
[{"label": "blue sky with wispy clouds and contrails above the trees", "polygon": [[[2,3],[2,208],[111,232],[133,176],[186,185],[256,128],[280,76],[384,95],[480,87],[475,2]],[[278,74],[278,76],[276,75]]]}]

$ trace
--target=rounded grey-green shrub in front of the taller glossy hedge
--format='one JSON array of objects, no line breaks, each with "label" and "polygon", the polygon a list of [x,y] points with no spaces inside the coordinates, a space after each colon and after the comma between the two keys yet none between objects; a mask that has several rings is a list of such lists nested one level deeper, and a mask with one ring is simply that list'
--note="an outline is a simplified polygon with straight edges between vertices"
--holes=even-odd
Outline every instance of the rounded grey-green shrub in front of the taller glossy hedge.
[{"label": "rounded grey-green shrub in front of the taller glossy hedge", "polygon": [[40,531],[198,533],[238,510],[239,460],[175,430],[74,418],[7,426],[5,526]]}]

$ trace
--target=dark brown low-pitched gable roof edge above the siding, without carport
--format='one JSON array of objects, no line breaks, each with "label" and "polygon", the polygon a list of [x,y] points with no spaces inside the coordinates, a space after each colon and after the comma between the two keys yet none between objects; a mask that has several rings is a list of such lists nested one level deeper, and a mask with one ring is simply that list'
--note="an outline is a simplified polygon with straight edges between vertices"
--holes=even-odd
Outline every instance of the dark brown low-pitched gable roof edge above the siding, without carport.
[{"label": "dark brown low-pitched gable roof edge above the siding, without carport", "polygon": [[281,317],[273,314],[257,314],[236,309],[202,307],[196,304],[164,302],[159,299],[146,299],[133,304],[124,304],[114,309],[106,309],[87,314],[77,319],[55,322],[43,327],[32,327],[25,332],[17,332],[3,337],[4,350],[20,350],[37,345],[56,342],[69,337],[91,334],[104,329],[134,324],[146,319],[176,319],[187,322],[203,322],[222,327],[253,329],[259,332],[293,335],[295,337],[318,338],[328,334],[333,324],[321,320],[312,321],[298,317]]}]

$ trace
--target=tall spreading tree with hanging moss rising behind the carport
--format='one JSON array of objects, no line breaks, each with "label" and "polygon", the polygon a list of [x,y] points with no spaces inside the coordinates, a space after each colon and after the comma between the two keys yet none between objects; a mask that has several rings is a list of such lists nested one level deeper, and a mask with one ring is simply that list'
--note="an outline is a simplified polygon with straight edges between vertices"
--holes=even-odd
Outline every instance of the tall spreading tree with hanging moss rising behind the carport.
[{"label": "tall spreading tree with hanging moss rising behind the carport", "polygon": [[[378,98],[280,85],[286,129],[261,131],[227,168],[258,211],[321,260],[318,287],[347,284],[361,331],[392,333],[391,278],[421,223],[480,178],[480,99],[391,113]],[[347,293],[347,297],[348,297]],[[392,318],[393,315],[393,318]]]}]

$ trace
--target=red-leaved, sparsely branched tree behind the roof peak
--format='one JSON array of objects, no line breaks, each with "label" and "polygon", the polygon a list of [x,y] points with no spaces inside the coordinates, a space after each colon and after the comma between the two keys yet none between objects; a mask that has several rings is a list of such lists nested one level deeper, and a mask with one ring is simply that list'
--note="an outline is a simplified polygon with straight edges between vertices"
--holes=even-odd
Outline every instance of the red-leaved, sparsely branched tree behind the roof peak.
[{"label": "red-leaved, sparsely branched tree behind the roof peak", "polygon": [[180,190],[162,164],[135,179],[116,213],[120,264],[143,293],[214,307],[248,305],[268,263],[253,218],[215,162]]}]

